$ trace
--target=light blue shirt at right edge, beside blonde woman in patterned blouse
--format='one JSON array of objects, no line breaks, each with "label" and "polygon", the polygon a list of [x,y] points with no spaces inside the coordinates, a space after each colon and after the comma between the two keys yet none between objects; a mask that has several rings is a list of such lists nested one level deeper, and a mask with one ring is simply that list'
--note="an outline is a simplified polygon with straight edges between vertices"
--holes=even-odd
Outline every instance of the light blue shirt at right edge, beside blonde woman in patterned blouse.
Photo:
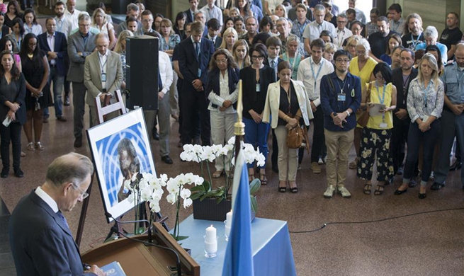
[{"label": "light blue shirt at right edge, beside blonde woman in patterned blouse", "polygon": [[441,81],[445,84],[446,96],[453,105],[464,103],[464,71],[461,71],[456,62],[445,67]]}]

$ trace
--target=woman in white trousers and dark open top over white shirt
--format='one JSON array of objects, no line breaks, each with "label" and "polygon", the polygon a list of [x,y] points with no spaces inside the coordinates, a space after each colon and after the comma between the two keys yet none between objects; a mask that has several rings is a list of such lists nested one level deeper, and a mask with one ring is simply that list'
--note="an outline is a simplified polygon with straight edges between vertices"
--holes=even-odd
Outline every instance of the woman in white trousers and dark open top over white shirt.
[{"label": "woman in white trousers and dark open top over white shirt", "polygon": [[[239,69],[232,54],[226,49],[218,49],[210,61],[210,73],[205,88],[205,96],[210,101],[211,139],[213,144],[224,145],[234,136],[234,123],[237,121],[237,110],[234,104],[237,102],[239,82]],[[230,159],[232,155],[227,154],[225,158],[217,158],[215,161],[216,171],[213,178],[220,178],[224,170],[227,176],[231,176]]]}]

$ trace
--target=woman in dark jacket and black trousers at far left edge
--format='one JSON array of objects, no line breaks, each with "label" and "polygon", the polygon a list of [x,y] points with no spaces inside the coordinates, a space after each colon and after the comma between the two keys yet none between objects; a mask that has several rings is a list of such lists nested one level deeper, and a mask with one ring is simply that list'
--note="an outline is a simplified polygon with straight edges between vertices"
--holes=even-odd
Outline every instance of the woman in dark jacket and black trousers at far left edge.
[{"label": "woman in dark jacket and black trousers at far left edge", "polygon": [[24,176],[21,171],[21,125],[26,122],[26,81],[15,65],[13,52],[0,52],[0,118],[9,118],[9,125],[0,124],[1,178],[7,178],[10,171],[10,142],[13,145],[13,170],[18,178]]}]

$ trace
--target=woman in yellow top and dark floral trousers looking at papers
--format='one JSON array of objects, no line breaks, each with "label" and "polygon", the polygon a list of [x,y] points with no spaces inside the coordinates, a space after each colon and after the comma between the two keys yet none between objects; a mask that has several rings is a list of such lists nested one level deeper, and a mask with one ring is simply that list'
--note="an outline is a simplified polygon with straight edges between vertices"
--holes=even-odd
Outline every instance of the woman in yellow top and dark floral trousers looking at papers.
[{"label": "woman in yellow top and dark floral trousers looking at papers", "polygon": [[390,137],[393,128],[392,110],[396,108],[396,87],[392,84],[392,69],[386,63],[374,67],[375,81],[366,84],[361,109],[367,105],[383,105],[378,115],[369,115],[366,127],[361,134],[360,160],[358,162],[358,178],[366,180],[364,193],[370,195],[372,173],[375,156],[377,156],[377,187],[374,195],[382,195],[385,180],[392,177],[393,166],[390,156]]}]

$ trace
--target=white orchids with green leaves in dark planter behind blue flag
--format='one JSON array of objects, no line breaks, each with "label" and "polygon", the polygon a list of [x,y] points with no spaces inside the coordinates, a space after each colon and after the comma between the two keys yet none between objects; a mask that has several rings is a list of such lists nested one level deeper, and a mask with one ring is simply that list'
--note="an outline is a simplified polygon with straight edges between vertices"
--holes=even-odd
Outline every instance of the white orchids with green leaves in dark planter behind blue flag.
[{"label": "white orchids with green leaves in dark planter behind blue flag", "polygon": [[[259,149],[254,149],[254,146],[251,144],[240,142],[242,146],[242,151],[244,151],[245,160],[247,163],[257,162],[258,166],[264,166],[266,161],[263,154],[259,152]],[[193,194],[191,195],[191,200],[204,200],[205,198],[217,198],[217,202],[226,200],[229,195],[229,190],[232,185],[232,178],[225,178],[225,185],[218,187],[217,189],[212,189],[213,179],[211,178],[211,171],[208,162],[213,162],[217,158],[222,158],[225,161],[225,157],[230,157],[230,168],[232,171],[233,164],[235,163],[235,137],[229,139],[225,146],[222,145],[213,145],[213,146],[200,146],[193,144],[186,144],[183,146],[183,151],[181,153],[181,159],[183,161],[194,161],[200,163],[201,174],[204,176],[204,166],[208,171],[209,181],[204,181],[202,185],[196,185],[196,187],[191,188]],[[251,183],[250,190],[256,192],[259,190],[259,180]],[[252,209],[256,212],[256,198],[252,196],[251,199]],[[253,204],[254,202],[254,204]]]}]

